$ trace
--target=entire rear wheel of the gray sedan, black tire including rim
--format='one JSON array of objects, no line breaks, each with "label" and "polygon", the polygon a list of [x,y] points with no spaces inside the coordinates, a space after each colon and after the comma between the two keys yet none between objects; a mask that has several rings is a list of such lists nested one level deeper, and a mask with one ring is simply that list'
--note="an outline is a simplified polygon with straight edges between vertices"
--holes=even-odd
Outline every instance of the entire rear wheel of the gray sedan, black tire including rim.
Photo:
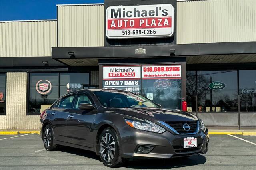
[{"label": "entire rear wheel of the gray sedan, black tire including rim", "polygon": [[46,125],[46,127],[44,128],[43,143],[44,148],[47,151],[54,151],[57,149],[57,145],[54,144],[52,126],[50,124]]}]

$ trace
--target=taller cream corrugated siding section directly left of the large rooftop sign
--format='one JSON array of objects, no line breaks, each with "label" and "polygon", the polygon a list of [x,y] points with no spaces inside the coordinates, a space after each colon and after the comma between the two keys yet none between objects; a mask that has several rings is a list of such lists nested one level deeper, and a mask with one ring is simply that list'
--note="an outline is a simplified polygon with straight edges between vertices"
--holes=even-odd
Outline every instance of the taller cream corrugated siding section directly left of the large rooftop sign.
[{"label": "taller cream corrugated siding section directly left of the large rooftop sign", "polygon": [[104,5],[58,6],[58,47],[104,46]]}]

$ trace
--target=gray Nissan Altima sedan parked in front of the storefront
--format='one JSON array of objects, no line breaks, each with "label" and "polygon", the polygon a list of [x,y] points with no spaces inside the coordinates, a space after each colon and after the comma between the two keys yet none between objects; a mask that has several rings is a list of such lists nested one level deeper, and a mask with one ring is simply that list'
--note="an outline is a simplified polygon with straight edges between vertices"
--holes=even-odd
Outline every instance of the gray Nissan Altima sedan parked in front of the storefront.
[{"label": "gray Nissan Altima sedan parked in front of the storefront", "polygon": [[40,123],[46,150],[58,145],[91,150],[109,167],[122,166],[126,159],[166,159],[208,150],[208,129],[195,115],[123,90],[73,91],[43,111]]}]

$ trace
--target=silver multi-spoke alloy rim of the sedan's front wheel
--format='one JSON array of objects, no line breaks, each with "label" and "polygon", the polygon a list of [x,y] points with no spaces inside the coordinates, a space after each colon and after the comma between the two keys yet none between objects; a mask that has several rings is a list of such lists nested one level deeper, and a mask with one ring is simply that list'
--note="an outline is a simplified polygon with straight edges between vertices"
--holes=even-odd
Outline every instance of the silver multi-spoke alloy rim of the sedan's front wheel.
[{"label": "silver multi-spoke alloy rim of the sedan's front wheel", "polygon": [[116,152],[116,143],[111,134],[105,133],[100,140],[100,154],[106,162],[113,160]]}]

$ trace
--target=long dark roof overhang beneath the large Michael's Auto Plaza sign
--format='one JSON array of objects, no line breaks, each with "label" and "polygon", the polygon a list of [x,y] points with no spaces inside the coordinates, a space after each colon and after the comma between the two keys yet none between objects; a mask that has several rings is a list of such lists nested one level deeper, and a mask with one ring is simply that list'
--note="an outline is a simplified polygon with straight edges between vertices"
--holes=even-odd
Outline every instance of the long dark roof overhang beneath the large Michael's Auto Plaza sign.
[{"label": "long dark roof overhang beneath the large Michael's Auto Plaza sign", "polygon": [[[144,49],[146,52],[144,54],[136,54],[135,51],[139,48]],[[70,52],[72,52],[73,55],[70,55]],[[70,66],[93,66],[98,64],[98,59],[106,58],[145,57],[186,57],[188,63],[195,64],[222,63],[223,61],[225,61],[225,63],[256,62],[256,60],[254,60],[255,54],[256,42],[52,48],[52,58]],[[247,58],[244,58],[245,56]],[[194,60],[198,62],[194,62]]]}]

